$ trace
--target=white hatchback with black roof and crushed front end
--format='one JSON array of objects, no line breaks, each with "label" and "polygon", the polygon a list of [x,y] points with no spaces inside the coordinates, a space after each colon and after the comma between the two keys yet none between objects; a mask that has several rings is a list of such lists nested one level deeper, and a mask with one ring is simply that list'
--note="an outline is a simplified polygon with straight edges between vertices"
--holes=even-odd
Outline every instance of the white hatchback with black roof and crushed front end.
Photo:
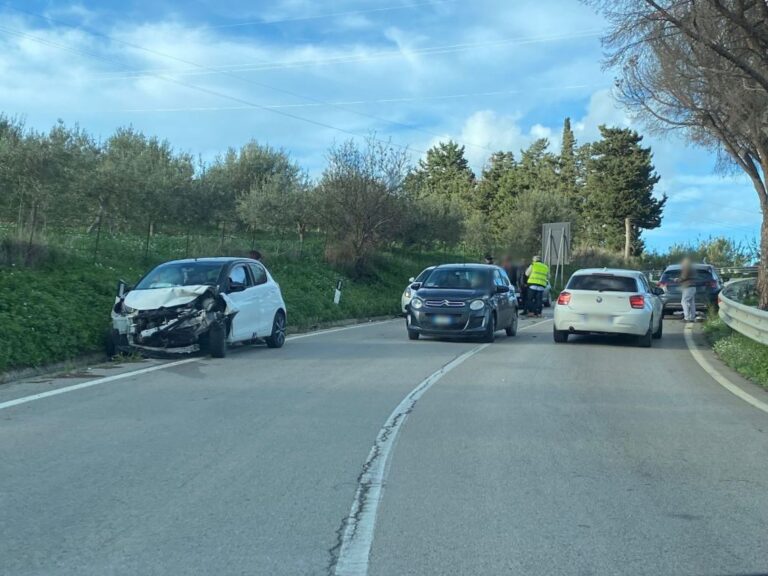
[{"label": "white hatchback with black roof and crushed front end", "polygon": [[193,353],[222,358],[234,342],[285,343],[280,286],[245,258],[175,260],[136,286],[118,285],[109,352]]}]

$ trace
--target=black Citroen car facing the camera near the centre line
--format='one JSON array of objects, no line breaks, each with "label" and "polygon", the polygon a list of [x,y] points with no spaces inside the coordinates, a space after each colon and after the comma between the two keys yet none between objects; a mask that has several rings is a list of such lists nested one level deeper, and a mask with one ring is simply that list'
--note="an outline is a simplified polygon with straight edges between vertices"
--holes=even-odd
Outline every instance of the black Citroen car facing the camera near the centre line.
[{"label": "black Citroen car facing the camera near the centre line", "polygon": [[517,295],[506,272],[486,264],[443,264],[411,284],[408,338],[468,338],[493,342],[497,330],[517,333]]}]

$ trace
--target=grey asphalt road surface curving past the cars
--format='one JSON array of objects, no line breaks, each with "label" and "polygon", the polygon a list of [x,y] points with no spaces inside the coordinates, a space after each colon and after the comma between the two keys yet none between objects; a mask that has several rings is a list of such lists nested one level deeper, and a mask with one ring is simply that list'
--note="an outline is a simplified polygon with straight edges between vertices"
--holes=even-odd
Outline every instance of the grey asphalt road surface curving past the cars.
[{"label": "grey asphalt road surface curving past the cars", "polygon": [[[768,414],[665,330],[650,350],[500,333],[432,383],[367,573],[768,573]],[[380,429],[477,347],[390,322],[2,409],[0,574],[333,574]]]}]

